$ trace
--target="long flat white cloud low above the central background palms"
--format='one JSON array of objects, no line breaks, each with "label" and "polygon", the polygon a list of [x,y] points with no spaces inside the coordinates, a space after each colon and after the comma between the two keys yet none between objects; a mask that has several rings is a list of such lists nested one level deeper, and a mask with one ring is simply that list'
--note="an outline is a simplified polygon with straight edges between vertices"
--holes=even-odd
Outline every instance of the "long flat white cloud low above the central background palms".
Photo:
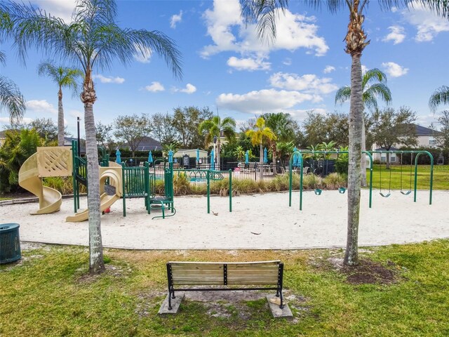
[{"label": "long flat white cloud low above the central background palms", "polygon": [[243,95],[222,93],[217,97],[217,106],[223,109],[246,112],[250,114],[261,112],[279,112],[286,110],[307,100],[319,100],[309,93],[298,91],[278,91],[276,89],[264,89],[250,91]]}]

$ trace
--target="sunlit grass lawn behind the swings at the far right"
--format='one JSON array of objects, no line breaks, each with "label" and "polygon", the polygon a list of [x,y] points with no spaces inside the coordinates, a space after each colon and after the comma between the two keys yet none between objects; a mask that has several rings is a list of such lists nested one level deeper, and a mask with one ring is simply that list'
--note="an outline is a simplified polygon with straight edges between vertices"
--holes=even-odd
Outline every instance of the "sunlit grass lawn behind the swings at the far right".
[{"label": "sunlit grass lawn behind the swings at the far right", "polygon": [[[391,171],[391,190],[401,189],[401,166],[394,165],[391,169],[385,169],[385,165],[374,165],[373,167],[373,188],[380,188],[380,175],[382,170],[382,190],[389,190],[390,171]],[[366,171],[367,182],[369,183],[370,171]],[[418,165],[417,171],[417,189],[429,190],[430,165]],[[410,187],[410,165],[402,166],[402,189],[412,190],[415,184],[415,166],[412,166],[412,183]],[[449,166],[434,166],[434,190],[449,190]]]}]

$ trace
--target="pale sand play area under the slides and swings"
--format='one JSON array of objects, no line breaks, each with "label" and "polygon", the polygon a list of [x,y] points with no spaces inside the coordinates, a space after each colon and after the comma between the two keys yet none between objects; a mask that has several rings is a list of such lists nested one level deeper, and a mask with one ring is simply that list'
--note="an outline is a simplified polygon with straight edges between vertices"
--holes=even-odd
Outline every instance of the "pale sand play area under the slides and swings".
[{"label": "pale sand play area under the slides and swings", "polygon": [[[422,242],[449,237],[449,191],[429,191],[405,196],[392,191],[383,198],[373,191],[373,208],[368,208],[368,191],[362,191],[360,246]],[[126,218],[122,202],[102,216],[102,240],[106,247],[125,249],[304,249],[344,247],[347,228],[347,194],[323,191],[320,196],[306,191],[302,211],[299,192],[228,197],[175,197],[177,213],[171,218],[152,220],[161,211],[145,211],[143,199],[127,199]],[[82,211],[86,197],[81,198]],[[0,223],[19,223],[20,239],[27,242],[88,245],[88,223],[67,223],[73,213],[73,199],[64,199],[59,212],[31,216],[35,202],[1,204]],[[215,215],[215,214],[216,215]]]}]

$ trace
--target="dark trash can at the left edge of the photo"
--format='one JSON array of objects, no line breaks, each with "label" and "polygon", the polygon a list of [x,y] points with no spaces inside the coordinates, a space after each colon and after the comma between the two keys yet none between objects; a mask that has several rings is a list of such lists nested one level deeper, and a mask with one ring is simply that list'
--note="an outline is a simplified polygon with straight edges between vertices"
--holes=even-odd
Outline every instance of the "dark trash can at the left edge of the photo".
[{"label": "dark trash can at the left edge of the photo", "polygon": [[22,257],[18,223],[0,224],[0,264],[10,263]]}]

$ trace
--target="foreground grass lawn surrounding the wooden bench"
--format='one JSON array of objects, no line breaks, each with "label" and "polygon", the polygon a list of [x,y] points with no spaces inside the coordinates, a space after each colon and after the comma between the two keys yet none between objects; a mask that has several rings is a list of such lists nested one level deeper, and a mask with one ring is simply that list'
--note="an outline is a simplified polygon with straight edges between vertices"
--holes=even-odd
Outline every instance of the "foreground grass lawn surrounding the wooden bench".
[{"label": "foreground grass lawn surrounding the wooden bench", "polygon": [[[107,272],[89,277],[88,251],[43,246],[0,266],[0,336],[449,336],[449,240],[365,249],[395,282],[350,284],[331,261],[342,250],[122,251],[105,249]],[[266,300],[186,300],[157,315],[168,260],[272,260],[285,263],[295,318],[273,319]],[[242,312],[244,315],[242,315]]]}]

